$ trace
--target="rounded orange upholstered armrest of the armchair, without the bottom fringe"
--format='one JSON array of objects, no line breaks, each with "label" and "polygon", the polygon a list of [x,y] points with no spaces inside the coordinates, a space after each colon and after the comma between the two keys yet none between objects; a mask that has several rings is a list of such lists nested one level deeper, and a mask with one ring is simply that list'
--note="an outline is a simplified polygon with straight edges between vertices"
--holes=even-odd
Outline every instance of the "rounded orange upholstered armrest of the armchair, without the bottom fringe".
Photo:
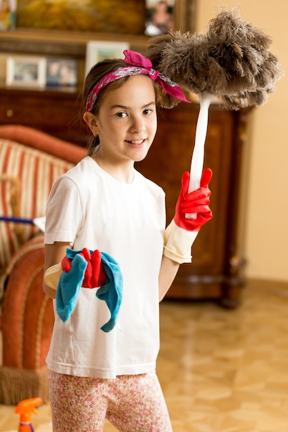
[{"label": "rounded orange upholstered armrest of the armchair, without the bottom fringe", "polygon": [[5,274],[2,338],[3,366],[39,369],[45,365],[54,313],[42,288],[44,236],[26,242]]}]

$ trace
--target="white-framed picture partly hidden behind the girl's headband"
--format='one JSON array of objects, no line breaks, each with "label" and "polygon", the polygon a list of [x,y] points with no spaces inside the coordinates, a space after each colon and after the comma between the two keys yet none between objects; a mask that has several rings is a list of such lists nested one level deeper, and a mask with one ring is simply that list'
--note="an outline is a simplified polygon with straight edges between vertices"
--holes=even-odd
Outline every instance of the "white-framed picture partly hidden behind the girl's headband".
[{"label": "white-framed picture partly hidden behind the girl's headband", "polygon": [[124,59],[124,50],[129,49],[126,42],[88,41],[86,45],[85,76],[90,68],[105,59]]}]

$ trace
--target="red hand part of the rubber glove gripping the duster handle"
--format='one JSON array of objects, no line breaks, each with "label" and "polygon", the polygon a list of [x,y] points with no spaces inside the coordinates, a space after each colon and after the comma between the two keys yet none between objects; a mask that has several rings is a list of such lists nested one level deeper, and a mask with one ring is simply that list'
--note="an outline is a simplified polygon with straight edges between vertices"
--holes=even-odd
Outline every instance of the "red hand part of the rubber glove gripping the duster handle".
[{"label": "red hand part of the rubber glove gripping the duster handle", "polygon": [[[190,173],[186,171],[182,175],[182,190],[177,199],[174,216],[174,222],[180,228],[187,231],[199,231],[201,226],[211,219],[212,212],[209,208],[211,190],[208,187],[211,177],[212,171],[207,168],[202,173],[200,188],[187,193]],[[188,219],[187,213],[197,213],[196,219]]]}]

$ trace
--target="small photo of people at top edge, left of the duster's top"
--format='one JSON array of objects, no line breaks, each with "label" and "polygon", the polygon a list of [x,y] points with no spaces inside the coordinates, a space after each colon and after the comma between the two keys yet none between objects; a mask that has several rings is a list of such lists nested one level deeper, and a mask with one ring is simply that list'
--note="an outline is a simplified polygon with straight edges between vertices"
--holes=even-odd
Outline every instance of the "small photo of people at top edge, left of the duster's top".
[{"label": "small photo of people at top edge, left of the duster's top", "polygon": [[175,0],[146,0],[145,35],[163,35],[174,30]]}]

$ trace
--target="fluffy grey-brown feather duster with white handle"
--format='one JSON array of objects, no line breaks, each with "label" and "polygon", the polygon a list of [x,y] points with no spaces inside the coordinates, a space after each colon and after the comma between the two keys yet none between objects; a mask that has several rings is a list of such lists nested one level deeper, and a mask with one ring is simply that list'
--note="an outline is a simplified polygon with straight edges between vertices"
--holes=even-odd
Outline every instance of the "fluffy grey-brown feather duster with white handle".
[{"label": "fluffy grey-brown feather duster with white handle", "polygon": [[200,185],[213,96],[224,108],[238,110],[266,104],[275,90],[283,71],[269,52],[271,42],[263,30],[241,18],[238,8],[223,9],[206,35],[177,31],[151,38],[147,57],[153,67],[200,99],[189,192]]}]

